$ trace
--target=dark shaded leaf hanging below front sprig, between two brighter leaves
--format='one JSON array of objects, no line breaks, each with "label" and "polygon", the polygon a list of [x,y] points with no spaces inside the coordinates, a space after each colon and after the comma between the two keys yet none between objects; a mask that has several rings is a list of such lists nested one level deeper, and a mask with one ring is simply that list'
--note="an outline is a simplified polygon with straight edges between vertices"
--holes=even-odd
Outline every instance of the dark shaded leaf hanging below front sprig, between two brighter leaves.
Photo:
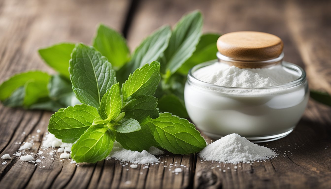
[{"label": "dark shaded leaf hanging below front sprig, between two brighter leaves", "polygon": [[158,143],[152,135],[150,126],[151,123],[141,124],[141,129],[139,131],[130,133],[115,132],[116,141],[127,150],[137,150],[139,152],[148,150],[151,146],[158,146]]}]

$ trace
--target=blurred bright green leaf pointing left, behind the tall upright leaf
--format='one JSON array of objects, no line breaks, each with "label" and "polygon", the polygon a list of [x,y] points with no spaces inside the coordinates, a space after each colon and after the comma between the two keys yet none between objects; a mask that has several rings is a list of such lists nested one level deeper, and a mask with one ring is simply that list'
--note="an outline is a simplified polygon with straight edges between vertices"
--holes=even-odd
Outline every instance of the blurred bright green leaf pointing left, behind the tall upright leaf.
[{"label": "blurred bright green leaf pointing left, behind the tall upright leaf", "polygon": [[39,49],[41,58],[54,70],[69,78],[69,60],[72,49],[75,47],[73,43],[59,43],[53,46]]}]

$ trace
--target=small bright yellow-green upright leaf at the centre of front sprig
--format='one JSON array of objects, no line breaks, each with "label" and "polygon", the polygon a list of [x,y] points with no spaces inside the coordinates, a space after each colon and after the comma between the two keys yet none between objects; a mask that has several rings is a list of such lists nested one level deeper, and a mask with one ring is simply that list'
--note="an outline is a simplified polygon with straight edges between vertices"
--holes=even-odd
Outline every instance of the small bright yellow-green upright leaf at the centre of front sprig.
[{"label": "small bright yellow-green upright leaf at the centre of front sprig", "polygon": [[111,121],[119,115],[121,108],[122,99],[119,94],[119,83],[116,83],[102,97],[98,112],[101,118]]}]

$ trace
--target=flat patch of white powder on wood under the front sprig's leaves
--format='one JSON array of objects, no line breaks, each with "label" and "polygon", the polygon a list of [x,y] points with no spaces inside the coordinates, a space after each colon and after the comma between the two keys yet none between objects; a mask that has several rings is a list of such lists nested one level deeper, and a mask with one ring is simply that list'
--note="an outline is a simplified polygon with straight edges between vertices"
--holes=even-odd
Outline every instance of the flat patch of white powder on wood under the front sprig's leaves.
[{"label": "flat patch of white powder on wood under the front sprig's leaves", "polygon": [[113,150],[107,159],[114,158],[122,162],[131,162],[133,164],[152,164],[159,160],[146,150],[142,152],[124,149],[118,142],[114,142]]}]

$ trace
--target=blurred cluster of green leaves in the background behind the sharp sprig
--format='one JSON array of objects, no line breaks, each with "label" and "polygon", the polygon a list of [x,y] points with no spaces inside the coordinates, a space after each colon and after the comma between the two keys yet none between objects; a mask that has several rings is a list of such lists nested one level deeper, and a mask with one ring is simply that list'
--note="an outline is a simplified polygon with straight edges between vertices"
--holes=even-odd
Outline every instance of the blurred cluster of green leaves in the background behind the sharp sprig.
[{"label": "blurred cluster of green leaves in the background behind the sharp sprig", "polygon": [[[130,55],[126,40],[117,31],[100,24],[92,40],[93,47],[105,56],[117,71],[119,83],[130,73],[152,61],[161,63],[161,79],[155,93],[160,112],[187,118],[184,84],[189,69],[214,59],[218,34],[202,35],[203,19],[195,11],[184,16],[171,30],[163,26],[145,38]],[[0,86],[0,100],[7,106],[56,111],[79,103],[69,80],[70,54],[75,44],[61,43],[40,49],[42,59],[58,75],[40,71],[18,74]]]}]

